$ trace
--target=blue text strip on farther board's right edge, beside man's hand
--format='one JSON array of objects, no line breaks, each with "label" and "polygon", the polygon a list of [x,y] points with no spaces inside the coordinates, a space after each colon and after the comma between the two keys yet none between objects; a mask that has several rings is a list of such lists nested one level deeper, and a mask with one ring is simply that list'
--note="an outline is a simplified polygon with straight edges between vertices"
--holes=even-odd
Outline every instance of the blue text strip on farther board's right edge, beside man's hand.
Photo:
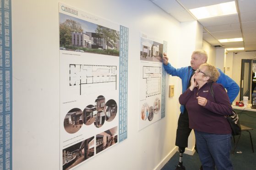
[{"label": "blue text strip on farther board's right edge, beside man's hand", "polygon": [[[167,52],[167,41],[163,41],[163,53]],[[166,95],[166,71],[162,67],[162,104],[161,104],[161,118],[165,117],[165,95]]]}]

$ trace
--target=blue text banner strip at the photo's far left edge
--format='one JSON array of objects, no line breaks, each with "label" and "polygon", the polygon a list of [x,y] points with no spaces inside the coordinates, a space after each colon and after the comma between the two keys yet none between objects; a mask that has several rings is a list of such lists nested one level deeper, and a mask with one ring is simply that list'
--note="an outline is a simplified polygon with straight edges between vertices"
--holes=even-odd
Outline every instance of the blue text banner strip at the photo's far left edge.
[{"label": "blue text banner strip at the photo's far left edge", "polygon": [[0,1],[0,170],[12,169],[11,0]]}]

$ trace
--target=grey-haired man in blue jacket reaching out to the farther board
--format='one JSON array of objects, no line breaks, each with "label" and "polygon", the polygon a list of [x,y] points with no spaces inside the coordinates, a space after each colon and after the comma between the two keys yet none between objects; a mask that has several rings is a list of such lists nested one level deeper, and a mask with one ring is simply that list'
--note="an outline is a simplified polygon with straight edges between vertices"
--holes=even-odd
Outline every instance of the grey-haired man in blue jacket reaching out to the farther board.
[{"label": "grey-haired man in blue jacket reaching out to the farther board", "polygon": [[[191,76],[201,64],[207,62],[207,58],[207,53],[204,50],[196,50],[191,55],[191,66],[176,69],[170,63],[168,63],[169,58],[165,53],[163,53],[163,67],[170,75],[180,77],[182,81],[182,93],[184,93],[185,90],[187,90],[187,88],[190,86]],[[224,88],[227,90],[229,101],[232,103],[238,95],[240,87],[234,82],[234,80],[224,74],[220,69],[218,69],[218,71],[220,76],[217,83],[224,86]],[[180,153],[183,154],[185,148],[188,147],[188,137],[191,133],[191,129],[189,128],[188,112],[186,111],[185,106],[180,106],[180,112],[175,145],[179,147]]]}]

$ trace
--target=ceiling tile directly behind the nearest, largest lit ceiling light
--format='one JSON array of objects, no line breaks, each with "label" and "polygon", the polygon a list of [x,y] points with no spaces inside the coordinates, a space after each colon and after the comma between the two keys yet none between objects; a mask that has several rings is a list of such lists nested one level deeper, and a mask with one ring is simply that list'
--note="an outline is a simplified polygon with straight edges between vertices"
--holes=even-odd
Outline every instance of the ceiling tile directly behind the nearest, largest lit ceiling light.
[{"label": "ceiling tile directly behind the nearest, largest lit ceiling light", "polygon": [[202,26],[209,27],[209,26],[239,23],[239,17],[238,17],[238,14],[233,14],[229,16],[218,16],[214,18],[206,18],[198,21],[202,24]]}]

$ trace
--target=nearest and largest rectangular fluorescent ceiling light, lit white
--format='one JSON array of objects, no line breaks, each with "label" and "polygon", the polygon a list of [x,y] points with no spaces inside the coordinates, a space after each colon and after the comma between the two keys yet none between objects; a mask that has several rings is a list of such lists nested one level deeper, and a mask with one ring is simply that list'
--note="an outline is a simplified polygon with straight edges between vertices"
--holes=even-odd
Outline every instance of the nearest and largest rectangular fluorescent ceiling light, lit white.
[{"label": "nearest and largest rectangular fluorescent ceiling light, lit white", "polygon": [[217,5],[204,6],[189,10],[199,20],[216,16],[226,16],[237,14],[235,1],[226,2]]}]

